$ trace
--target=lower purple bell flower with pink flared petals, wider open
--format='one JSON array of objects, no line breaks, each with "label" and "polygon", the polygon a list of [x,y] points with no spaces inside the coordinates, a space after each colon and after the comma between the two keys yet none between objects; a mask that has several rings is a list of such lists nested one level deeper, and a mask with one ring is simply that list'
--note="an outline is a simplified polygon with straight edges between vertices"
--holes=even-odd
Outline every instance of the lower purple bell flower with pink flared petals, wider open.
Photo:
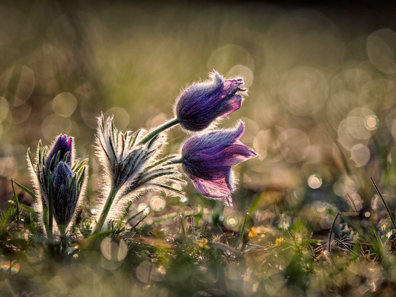
[{"label": "lower purple bell flower with pink flared petals, wider open", "polygon": [[257,156],[238,140],[244,130],[240,122],[234,129],[194,135],[184,143],[181,167],[202,195],[232,205],[236,182],[231,166]]}]

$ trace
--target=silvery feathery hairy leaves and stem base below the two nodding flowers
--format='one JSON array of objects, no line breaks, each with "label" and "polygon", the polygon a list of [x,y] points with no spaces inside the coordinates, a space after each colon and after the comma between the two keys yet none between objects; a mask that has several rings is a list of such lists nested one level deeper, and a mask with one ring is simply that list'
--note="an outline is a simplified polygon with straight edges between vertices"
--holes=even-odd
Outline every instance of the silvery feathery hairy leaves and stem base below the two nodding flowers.
[{"label": "silvery feathery hairy leaves and stem base below the two nodding flowers", "polygon": [[[154,131],[156,131],[154,129]],[[147,139],[147,141],[143,141]],[[166,145],[165,133],[148,133],[144,129],[121,133],[114,127],[113,117],[98,117],[96,154],[104,171],[103,200],[97,206],[94,221],[96,232],[107,228],[111,219],[118,219],[130,200],[147,191],[184,194],[172,187],[185,181],[171,161],[176,156],[160,159]]]}]

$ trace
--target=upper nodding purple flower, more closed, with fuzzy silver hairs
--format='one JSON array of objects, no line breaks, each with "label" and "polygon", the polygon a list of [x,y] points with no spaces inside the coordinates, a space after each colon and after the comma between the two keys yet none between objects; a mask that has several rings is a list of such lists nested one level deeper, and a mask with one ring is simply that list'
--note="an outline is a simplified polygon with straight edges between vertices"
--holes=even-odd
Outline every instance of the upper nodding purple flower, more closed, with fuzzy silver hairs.
[{"label": "upper nodding purple flower, more closed, with fuzzy silver hairs", "polygon": [[186,130],[206,129],[217,118],[227,116],[242,105],[240,93],[247,92],[246,88],[242,88],[242,77],[225,80],[219,72],[214,71],[209,73],[209,78],[189,86],[176,102],[174,114]]}]

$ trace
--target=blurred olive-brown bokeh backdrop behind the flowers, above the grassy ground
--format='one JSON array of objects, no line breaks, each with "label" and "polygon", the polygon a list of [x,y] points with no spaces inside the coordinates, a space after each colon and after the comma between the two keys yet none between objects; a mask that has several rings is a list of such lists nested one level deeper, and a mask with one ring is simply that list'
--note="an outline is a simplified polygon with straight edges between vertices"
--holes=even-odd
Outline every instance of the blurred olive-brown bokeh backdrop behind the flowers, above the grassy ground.
[{"label": "blurred olive-brown bokeh backdrop behind the flowers, above the grassy ground", "polygon": [[[59,133],[92,158],[89,191],[98,192],[95,116],[114,114],[120,129],[161,124],[181,88],[216,69],[245,77],[249,96],[222,126],[242,118],[241,140],[259,153],[235,168],[235,209],[263,191],[261,209],[346,194],[370,209],[369,176],[388,194],[394,185],[396,33],[379,5],[4,2],[0,206],[10,178],[29,186],[27,148]],[[166,152],[184,137],[172,129]],[[319,220],[329,228],[328,215]]]}]

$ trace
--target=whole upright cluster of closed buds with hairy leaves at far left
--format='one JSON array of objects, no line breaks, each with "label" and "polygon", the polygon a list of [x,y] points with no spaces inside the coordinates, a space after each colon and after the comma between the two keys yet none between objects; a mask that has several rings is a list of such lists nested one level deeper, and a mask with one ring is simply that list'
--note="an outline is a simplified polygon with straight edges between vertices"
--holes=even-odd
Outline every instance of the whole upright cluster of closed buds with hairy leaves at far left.
[{"label": "whole upright cluster of closed buds with hairy leaves at far left", "polygon": [[[62,234],[72,221],[77,206],[83,199],[88,169],[87,160],[75,160],[73,138],[59,135],[51,147],[37,147],[34,164],[30,150],[27,155],[32,167],[30,175],[40,201],[41,222],[49,235],[53,231],[53,219]],[[41,203],[40,203],[41,202]]]}]

